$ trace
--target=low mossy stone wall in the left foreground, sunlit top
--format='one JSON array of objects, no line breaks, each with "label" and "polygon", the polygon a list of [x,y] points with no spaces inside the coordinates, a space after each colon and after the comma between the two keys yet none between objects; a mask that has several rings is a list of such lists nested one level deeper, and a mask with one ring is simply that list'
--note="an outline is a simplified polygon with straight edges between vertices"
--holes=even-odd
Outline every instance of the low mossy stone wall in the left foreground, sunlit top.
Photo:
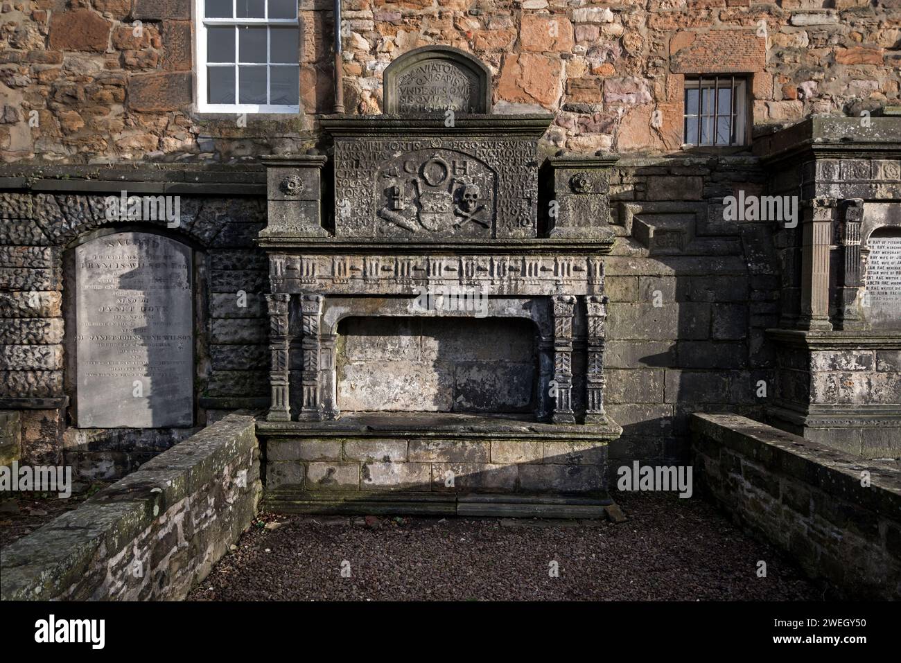
[{"label": "low mossy stone wall in the left foreground, sunlit top", "polygon": [[0,597],[184,598],[256,512],[254,425],[230,414],[0,551]]}]

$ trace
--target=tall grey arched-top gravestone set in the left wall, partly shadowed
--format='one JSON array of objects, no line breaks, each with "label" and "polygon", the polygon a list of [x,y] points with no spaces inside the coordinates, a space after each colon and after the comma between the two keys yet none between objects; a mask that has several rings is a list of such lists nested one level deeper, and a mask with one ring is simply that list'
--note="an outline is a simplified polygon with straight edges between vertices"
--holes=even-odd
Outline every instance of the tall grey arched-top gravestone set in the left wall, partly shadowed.
[{"label": "tall grey arched-top gravestone set in the left wall, partly shadowed", "polygon": [[191,426],[190,248],[117,232],[78,246],[75,256],[78,426]]}]

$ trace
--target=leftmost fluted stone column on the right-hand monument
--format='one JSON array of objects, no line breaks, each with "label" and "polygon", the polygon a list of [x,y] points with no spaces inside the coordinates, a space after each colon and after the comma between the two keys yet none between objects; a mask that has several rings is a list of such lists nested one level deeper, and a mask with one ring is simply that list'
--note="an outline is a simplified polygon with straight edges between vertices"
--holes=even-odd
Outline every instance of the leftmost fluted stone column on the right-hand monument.
[{"label": "leftmost fluted stone column on the right-hand monument", "polygon": [[829,322],[829,250],[833,241],[833,198],[805,203],[801,246],[801,314],[804,330],[832,330]]}]

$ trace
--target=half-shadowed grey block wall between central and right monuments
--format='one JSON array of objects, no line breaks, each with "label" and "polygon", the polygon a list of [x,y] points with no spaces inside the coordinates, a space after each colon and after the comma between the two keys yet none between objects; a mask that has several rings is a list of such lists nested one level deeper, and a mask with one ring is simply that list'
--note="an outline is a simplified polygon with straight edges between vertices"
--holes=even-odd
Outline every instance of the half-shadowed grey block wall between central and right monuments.
[{"label": "half-shadowed grey block wall between central and right monuments", "polygon": [[[623,426],[613,473],[633,459],[687,463],[691,413],[762,419],[775,392],[764,336],[779,316],[774,224],[724,222],[721,204],[671,200],[691,195],[683,182],[693,177],[661,179],[672,180],[669,201],[619,205],[619,240],[605,259],[605,402]],[[733,194],[731,184],[720,189]]]}]

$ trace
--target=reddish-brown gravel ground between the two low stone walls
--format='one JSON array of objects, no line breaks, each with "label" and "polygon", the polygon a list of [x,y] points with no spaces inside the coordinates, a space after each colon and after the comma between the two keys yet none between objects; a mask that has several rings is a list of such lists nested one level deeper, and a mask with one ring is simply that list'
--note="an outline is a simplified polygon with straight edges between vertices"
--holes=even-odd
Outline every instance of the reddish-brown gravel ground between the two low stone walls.
[{"label": "reddish-brown gravel ground between the two low stone walls", "polygon": [[[628,521],[261,513],[188,600],[829,598],[827,587],[699,499],[616,500]],[[757,576],[760,559],[767,577]]]}]

